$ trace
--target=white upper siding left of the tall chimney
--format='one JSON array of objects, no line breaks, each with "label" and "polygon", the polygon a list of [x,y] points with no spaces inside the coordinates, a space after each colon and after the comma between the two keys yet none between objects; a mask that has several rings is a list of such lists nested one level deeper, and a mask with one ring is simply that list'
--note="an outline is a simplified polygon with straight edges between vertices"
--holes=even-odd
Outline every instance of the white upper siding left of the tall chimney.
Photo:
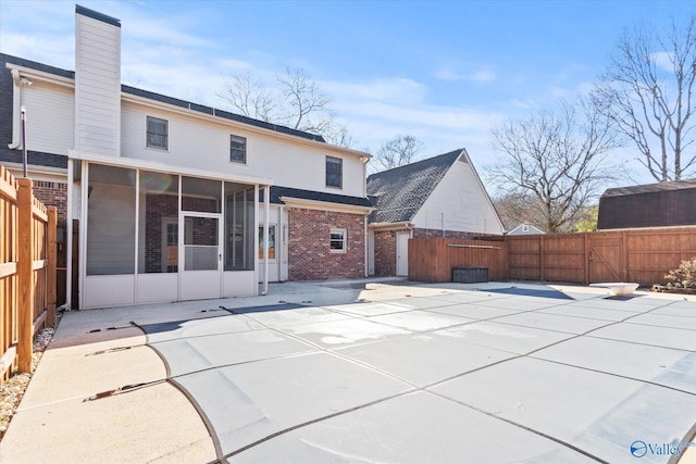
[{"label": "white upper siding left of the tall chimney", "polygon": [[67,155],[73,148],[72,89],[37,79],[22,88],[22,104],[26,108],[27,149]]}]

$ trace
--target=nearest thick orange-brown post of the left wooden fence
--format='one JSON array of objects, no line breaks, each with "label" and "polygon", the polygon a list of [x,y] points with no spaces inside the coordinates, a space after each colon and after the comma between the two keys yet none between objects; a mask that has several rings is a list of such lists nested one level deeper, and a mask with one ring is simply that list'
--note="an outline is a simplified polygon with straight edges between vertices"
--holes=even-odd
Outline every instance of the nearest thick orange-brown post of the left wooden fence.
[{"label": "nearest thick orange-brown post of the left wooden fence", "polygon": [[34,238],[32,213],[32,179],[17,179],[18,243],[17,243],[17,367],[20,372],[32,372],[32,350],[34,339],[34,283],[33,248]]}]

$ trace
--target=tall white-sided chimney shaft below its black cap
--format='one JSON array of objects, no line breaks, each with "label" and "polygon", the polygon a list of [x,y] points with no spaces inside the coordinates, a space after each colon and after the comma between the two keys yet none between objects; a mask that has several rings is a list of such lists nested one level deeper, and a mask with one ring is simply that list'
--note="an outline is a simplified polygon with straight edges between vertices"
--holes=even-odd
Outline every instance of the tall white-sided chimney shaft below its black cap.
[{"label": "tall white-sided chimney shaft below its black cap", "polygon": [[75,148],[119,155],[121,28],[75,15]]}]

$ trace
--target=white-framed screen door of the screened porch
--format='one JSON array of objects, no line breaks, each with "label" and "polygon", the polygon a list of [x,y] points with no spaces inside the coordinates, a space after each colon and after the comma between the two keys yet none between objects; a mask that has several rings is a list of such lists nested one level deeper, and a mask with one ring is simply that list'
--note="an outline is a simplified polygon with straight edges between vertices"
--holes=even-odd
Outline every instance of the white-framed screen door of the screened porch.
[{"label": "white-framed screen door of the screened porch", "polygon": [[179,224],[179,300],[222,296],[222,215],[182,213]]}]

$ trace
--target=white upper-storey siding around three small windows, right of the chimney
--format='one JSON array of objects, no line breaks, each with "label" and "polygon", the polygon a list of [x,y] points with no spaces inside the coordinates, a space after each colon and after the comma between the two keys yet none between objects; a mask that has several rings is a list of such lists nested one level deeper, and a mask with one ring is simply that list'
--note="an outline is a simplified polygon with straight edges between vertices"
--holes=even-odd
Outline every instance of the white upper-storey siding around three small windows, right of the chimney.
[{"label": "white upper-storey siding around three small windows, right of the chimney", "polygon": [[[169,150],[146,148],[146,118],[169,121]],[[157,161],[226,174],[271,177],[275,185],[328,193],[362,197],[364,174],[362,162],[325,147],[259,135],[227,126],[224,122],[207,122],[195,117],[146,109],[124,103],[122,109],[123,156]],[[247,164],[229,162],[229,135],[247,139]],[[318,143],[319,145],[319,143]],[[343,188],[326,187],[326,155],[343,161]]]}]

